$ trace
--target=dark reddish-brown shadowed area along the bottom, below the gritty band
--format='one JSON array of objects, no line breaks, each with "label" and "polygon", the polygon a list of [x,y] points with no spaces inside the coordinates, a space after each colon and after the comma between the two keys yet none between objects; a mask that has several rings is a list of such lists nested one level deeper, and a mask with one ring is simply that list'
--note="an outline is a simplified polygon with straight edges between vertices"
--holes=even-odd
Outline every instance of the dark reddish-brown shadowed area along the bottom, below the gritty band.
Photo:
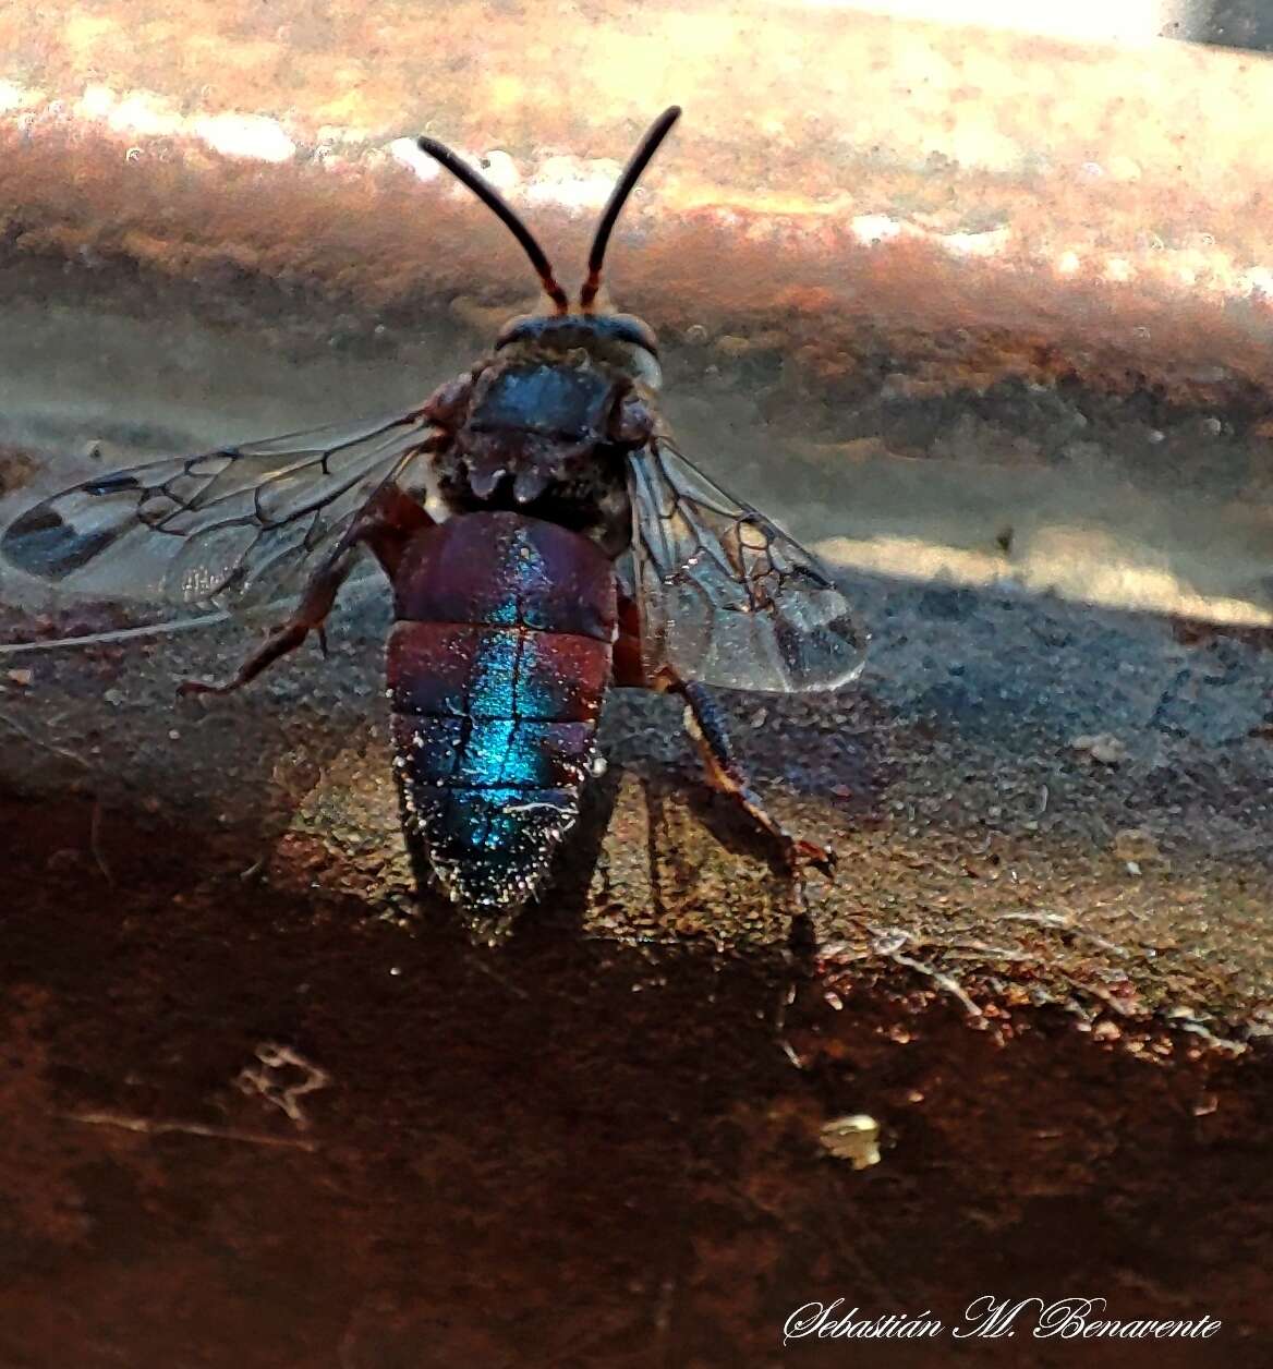
[{"label": "dark reddish-brown shadowed area along the bottom, below the gritty band", "polygon": [[[1098,1290],[1222,1335],[868,1362],[1268,1362],[1250,1062],[1136,1060],[1053,1013],[1005,1046],[901,971],[783,1012],[779,958],[561,912],[491,957],[356,902],[192,893],[185,834],[116,847],[89,899],[47,868],[85,819],[10,865],[8,1365],[835,1365],[860,1351],[779,1351],[813,1298],[957,1321]],[[819,1135],[862,1112],[857,1172]]]}]

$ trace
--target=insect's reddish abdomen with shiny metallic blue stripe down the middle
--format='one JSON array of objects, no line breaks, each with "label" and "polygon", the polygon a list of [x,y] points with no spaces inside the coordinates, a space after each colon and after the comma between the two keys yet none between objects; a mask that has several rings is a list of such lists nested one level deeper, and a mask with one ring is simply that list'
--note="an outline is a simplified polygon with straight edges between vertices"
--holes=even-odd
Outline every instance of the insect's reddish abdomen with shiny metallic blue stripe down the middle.
[{"label": "insect's reddish abdomen with shiny metallic blue stripe down the middle", "polygon": [[387,663],[394,765],[408,828],[457,902],[524,902],[578,817],[615,598],[593,542],[517,513],[453,519],[404,556]]}]

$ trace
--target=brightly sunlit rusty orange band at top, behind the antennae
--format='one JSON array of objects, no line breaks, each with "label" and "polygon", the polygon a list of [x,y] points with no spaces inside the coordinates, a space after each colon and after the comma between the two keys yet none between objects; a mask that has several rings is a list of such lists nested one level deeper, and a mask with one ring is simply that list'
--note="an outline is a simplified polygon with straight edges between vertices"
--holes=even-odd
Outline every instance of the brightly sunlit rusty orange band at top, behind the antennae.
[{"label": "brightly sunlit rusty orange band at top, behind the antennae", "polygon": [[140,261],[205,289],[260,274],[391,318],[506,298],[512,246],[396,140],[486,156],[578,252],[571,211],[676,99],[621,268],[660,324],[780,326],[824,374],[873,342],[946,379],[1268,383],[1255,55],[758,3],[542,25],[480,4],[196,4],[178,22],[16,3],[0,25],[10,259]]}]

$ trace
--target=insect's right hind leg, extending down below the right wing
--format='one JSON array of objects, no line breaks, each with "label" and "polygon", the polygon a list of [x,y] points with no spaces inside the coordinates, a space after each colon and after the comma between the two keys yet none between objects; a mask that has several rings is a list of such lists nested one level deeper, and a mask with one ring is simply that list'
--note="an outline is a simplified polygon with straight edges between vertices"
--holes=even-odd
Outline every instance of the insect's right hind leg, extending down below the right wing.
[{"label": "insect's right hind leg, extending down below the right wing", "polygon": [[816,842],[794,836],[765,808],[760,795],[751,789],[746,772],[734,754],[734,745],[725,727],[724,713],[704,684],[678,679],[671,671],[661,671],[653,679],[645,675],[641,660],[641,624],[636,606],[631,600],[621,600],[619,608],[619,637],[615,642],[615,683],[657,690],[661,694],[679,694],[686,702],[684,727],[702,757],[708,783],[720,794],[728,794],[739,808],[762,827],[783,849],[787,864],[798,871],[801,864],[816,865],[830,873],[835,867],[835,854]]}]

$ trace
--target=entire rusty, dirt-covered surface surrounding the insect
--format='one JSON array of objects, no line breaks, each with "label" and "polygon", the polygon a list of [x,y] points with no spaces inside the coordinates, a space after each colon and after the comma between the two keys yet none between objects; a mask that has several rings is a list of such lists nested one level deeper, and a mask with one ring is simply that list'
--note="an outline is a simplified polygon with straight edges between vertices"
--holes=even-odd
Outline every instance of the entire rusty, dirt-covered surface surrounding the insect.
[{"label": "entire rusty, dirt-covered surface surrounding the insect", "polygon": [[[769,5],[713,96],[719,23],[600,5],[565,100],[516,5],[446,60],[420,7],[36,8],[0,19],[0,523],[419,402],[523,278],[386,140],[439,119],[567,252],[654,63],[699,108],[620,300],[687,450],[873,642],[840,695],[727,700],[832,879],[615,695],[549,893],[487,925],[402,842],[374,583],[329,661],[205,704],[177,683],[260,624],[11,652],[126,628],[140,572],[5,570],[0,1366],[1273,1361],[1261,60]],[[987,1295],[1221,1329],[955,1339]],[[840,1296],[946,1332],[783,1347]]]}]

